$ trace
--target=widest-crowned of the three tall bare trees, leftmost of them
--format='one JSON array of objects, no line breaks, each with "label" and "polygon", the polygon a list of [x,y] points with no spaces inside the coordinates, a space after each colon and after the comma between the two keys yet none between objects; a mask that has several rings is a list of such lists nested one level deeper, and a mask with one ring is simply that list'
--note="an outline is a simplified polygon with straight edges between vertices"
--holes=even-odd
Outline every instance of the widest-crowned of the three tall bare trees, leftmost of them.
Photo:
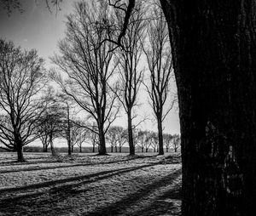
[{"label": "widest-crowned of the three tall bare trees, leftmost of them", "polygon": [[55,81],[96,121],[100,155],[107,153],[105,134],[119,111],[110,89],[115,69],[113,43],[102,43],[111,37],[108,3],[76,3],[74,14],[67,16],[66,38],[59,43],[61,55],[52,58],[67,77],[63,80],[55,74]]}]

